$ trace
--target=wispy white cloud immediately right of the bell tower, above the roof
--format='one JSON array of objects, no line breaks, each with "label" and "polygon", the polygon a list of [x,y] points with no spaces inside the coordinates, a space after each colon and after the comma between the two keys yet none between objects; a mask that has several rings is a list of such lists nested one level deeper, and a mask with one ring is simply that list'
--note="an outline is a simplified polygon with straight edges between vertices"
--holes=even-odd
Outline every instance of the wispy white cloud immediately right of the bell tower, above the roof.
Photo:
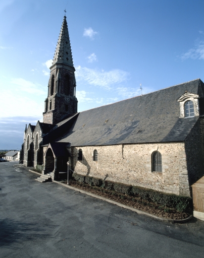
[{"label": "wispy white cloud immediately right of the bell tower, above the roof", "polygon": [[78,81],[86,81],[90,85],[105,90],[111,90],[113,85],[126,81],[128,76],[129,73],[119,69],[105,72],[104,70],[99,71],[80,66],[76,68],[76,79]]}]

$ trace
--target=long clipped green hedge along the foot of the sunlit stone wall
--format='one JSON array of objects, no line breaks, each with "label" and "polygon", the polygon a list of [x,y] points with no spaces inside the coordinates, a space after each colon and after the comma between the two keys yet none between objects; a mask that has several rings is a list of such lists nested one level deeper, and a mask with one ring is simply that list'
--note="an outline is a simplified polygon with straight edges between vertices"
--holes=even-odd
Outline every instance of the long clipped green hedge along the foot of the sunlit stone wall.
[{"label": "long clipped green hedge along the foot of the sunlit stone wall", "polygon": [[73,174],[73,177],[76,181],[87,183],[89,185],[100,186],[108,190],[115,190],[116,192],[156,203],[163,207],[176,209],[178,212],[186,212],[192,209],[192,198],[190,197],[177,196],[173,193],[160,192],[140,186],[102,180],[100,178],[83,176],[76,173]]}]

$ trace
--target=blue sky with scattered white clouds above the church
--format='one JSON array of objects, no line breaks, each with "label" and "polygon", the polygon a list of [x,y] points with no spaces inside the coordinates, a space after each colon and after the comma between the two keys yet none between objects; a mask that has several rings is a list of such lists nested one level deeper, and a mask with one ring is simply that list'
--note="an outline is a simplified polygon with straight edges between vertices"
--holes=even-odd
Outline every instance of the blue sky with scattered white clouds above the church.
[{"label": "blue sky with scattered white clouds above the church", "polygon": [[79,112],[204,80],[203,0],[0,0],[0,150],[42,121],[65,9]]}]

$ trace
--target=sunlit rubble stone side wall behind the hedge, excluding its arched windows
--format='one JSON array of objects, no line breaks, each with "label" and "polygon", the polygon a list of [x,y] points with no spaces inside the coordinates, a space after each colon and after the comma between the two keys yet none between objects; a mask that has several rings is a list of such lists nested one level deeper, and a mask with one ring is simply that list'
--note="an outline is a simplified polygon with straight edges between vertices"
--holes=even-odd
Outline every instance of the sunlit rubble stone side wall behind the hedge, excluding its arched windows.
[{"label": "sunlit rubble stone side wall behind the hedge, excluding its arched windows", "polygon": [[[77,160],[78,150],[83,160]],[[98,161],[93,161],[93,151]],[[151,171],[151,154],[162,154],[162,173]],[[72,169],[79,174],[190,196],[184,143],[125,144],[72,148]],[[183,182],[182,181],[182,182]],[[182,187],[182,191],[180,188]]]}]

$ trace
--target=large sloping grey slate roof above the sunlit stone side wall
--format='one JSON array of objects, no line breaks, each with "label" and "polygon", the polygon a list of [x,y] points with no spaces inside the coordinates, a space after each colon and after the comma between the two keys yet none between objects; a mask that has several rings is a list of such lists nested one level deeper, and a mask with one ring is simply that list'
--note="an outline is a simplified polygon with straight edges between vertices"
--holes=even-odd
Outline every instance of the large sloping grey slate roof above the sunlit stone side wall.
[{"label": "large sloping grey slate roof above the sunlit stone side wall", "polygon": [[[203,90],[202,81],[197,79],[80,112],[57,142],[90,146],[184,141],[198,117],[179,118],[177,99],[188,91],[198,94],[203,103]],[[203,114],[202,107],[200,110]]]}]

